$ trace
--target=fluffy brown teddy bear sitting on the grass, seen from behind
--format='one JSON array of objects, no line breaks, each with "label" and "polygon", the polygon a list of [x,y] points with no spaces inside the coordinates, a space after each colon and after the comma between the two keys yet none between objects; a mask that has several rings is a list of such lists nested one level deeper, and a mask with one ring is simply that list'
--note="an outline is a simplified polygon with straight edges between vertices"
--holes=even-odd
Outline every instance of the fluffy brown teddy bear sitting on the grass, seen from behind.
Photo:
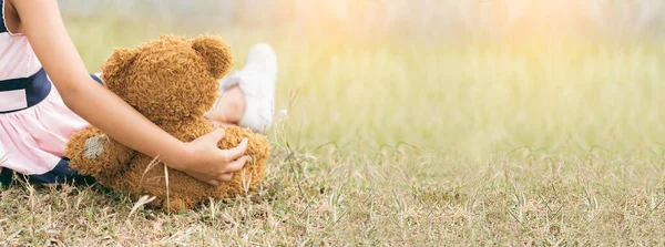
[{"label": "fluffy brown teddy bear sitting on the grass, seen from behind", "polygon": [[[204,113],[215,103],[218,80],[231,69],[232,60],[229,47],[217,37],[186,40],[163,35],[134,50],[115,50],[102,65],[102,80],[109,90],[157,126],[183,142],[191,142],[214,130]],[[166,172],[153,157],[117,143],[93,126],[71,137],[65,156],[71,167],[95,177],[104,186],[135,197],[153,195],[156,197],[153,205],[177,212],[208,198],[247,193],[263,179],[269,155],[265,136],[231,126],[225,128],[218,146],[234,147],[243,137],[249,141],[247,154],[252,161],[231,182],[219,186],[180,171]]]}]

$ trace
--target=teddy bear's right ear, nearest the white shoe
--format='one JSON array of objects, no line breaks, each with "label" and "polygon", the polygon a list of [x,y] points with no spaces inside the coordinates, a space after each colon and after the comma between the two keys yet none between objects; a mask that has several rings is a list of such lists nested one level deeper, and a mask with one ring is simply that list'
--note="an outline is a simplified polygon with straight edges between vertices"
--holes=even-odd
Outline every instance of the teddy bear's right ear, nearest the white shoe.
[{"label": "teddy bear's right ear, nearest the white shoe", "polygon": [[206,61],[213,78],[221,79],[233,65],[231,48],[221,38],[203,35],[191,42],[192,48]]}]

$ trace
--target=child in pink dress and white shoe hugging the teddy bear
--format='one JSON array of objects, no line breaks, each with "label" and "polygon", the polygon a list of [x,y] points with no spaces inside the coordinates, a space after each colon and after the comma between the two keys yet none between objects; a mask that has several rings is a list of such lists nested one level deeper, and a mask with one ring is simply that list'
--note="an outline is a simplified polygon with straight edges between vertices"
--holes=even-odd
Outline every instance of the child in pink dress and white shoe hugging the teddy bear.
[{"label": "child in pink dress and white shoe hugging the teddy bear", "polygon": [[[247,140],[218,150],[224,137],[219,128],[183,143],[89,75],[57,0],[0,0],[0,183],[13,172],[41,183],[78,177],[62,154],[69,136],[89,123],[211,185],[229,181],[242,169],[248,158]],[[222,96],[208,119],[265,132],[273,121],[276,73],[272,48],[255,45],[245,68],[221,81]]]}]

